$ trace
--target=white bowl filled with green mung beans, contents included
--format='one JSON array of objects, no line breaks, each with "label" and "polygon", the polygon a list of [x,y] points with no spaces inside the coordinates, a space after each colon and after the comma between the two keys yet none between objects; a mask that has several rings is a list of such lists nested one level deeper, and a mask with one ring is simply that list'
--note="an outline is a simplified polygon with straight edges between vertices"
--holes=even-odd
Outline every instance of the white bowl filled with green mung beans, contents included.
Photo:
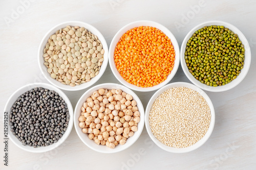
[{"label": "white bowl filled with green mung beans, contents included", "polygon": [[186,77],[207,91],[226,91],[245,78],[251,61],[243,33],[224,21],[207,21],[193,28],[181,45]]}]

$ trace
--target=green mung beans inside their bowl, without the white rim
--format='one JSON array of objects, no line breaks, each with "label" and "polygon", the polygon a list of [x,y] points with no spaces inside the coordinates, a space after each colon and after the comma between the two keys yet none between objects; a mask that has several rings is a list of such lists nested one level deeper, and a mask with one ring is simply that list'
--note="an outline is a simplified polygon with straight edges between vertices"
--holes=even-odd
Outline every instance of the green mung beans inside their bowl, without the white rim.
[{"label": "green mung beans inside their bowl, without the white rim", "polygon": [[189,72],[208,86],[222,86],[236,79],[244,65],[244,45],[237,34],[224,26],[205,26],[186,44]]}]

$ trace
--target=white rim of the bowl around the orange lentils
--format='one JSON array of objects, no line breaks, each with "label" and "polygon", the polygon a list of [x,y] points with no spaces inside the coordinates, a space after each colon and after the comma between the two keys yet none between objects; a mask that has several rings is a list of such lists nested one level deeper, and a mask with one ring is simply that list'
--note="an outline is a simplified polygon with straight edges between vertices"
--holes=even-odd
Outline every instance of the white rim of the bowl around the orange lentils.
[{"label": "white rim of the bowl around the orange lentils", "polygon": [[[122,76],[119,74],[117,68],[116,68],[116,64],[114,61],[114,52],[115,52],[115,48],[116,48],[116,44],[118,43],[118,41],[120,40],[121,36],[128,30],[133,29],[135,27],[139,27],[139,26],[151,26],[151,27],[155,27],[159,30],[161,30],[166,36],[168,36],[170,38],[170,41],[172,41],[172,44],[174,46],[174,50],[175,50],[175,62],[174,62],[174,67],[173,70],[170,72],[170,74],[167,76],[167,79],[158,84],[155,85],[153,87],[138,87],[136,85],[133,85],[131,83],[126,82]],[[174,75],[176,74],[176,71],[179,67],[179,63],[180,63],[180,50],[179,50],[179,44],[175,38],[175,36],[172,34],[172,32],[170,32],[166,27],[162,26],[160,23],[154,22],[154,21],[148,21],[148,20],[140,20],[140,21],[135,21],[135,22],[131,22],[129,24],[127,24],[126,26],[124,26],[123,28],[121,28],[116,35],[114,36],[113,40],[111,41],[110,44],[110,50],[109,50],[109,62],[110,62],[110,67],[111,70],[113,72],[113,74],[115,75],[115,77],[117,78],[117,80],[119,82],[121,82],[123,85],[125,85],[126,87],[129,87],[133,90],[136,91],[153,91],[153,90],[157,90],[161,87],[163,87],[164,85],[166,85],[170,80],[172,80],[172,78],[174,77]]]}]

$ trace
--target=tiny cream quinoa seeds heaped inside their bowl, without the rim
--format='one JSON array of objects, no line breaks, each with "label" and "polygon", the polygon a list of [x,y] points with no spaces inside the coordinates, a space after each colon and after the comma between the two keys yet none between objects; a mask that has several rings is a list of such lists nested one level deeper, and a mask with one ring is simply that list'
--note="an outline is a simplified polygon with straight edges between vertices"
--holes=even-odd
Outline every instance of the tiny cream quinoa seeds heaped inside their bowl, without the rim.
[{"label": "tiny cream quinoa seeds heaped inside their bowl, without the rim", "polygon": [[186,87],[174,87],[160,94],[149,115],[154,136],[174,148],[198,142],[206,134],[210,120],[210,108],[203,96]]}]

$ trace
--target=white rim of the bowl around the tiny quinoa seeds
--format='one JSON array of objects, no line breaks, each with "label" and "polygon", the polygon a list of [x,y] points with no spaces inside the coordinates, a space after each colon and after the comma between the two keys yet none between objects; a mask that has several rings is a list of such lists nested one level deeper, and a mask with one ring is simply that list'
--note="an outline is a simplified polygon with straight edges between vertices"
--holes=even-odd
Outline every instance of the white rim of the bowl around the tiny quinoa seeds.
[{"label": "white rim of the bowl around the tiny quinoa seeds", "polygon": [[[209,126],[208,131],[206,132],[206,134],[204,135],[204,137],[202,139],[200,139],[194,145],[191,145],[190,147],[187,147],[187,148],[168,147],[167,145],[161,143],[153,135],[153,133],[151,131],[151,128],[150,128],[150,124],[149,124],[150,110],[151,110],[151,107],[152,107],[153,103],[155,102],[155,100],[164,91],[166,91],[168,89],[171,89],[171,88],[174,88],[174,87],[187,87],[187,88],[196,90],[197,92],[199,92],[203,96],[203,98],[206,100],[206,102],[208,103],[208,105],[210,107],[211,121],[210,121],[210,126]],[[166,86],[160,88],[159,90],[157,90],[157,92],[155,92],[155,94],[152,96],[152,98],[148,102],[147,107],[146,107],[146,111],[145,111],[145,126],[146,126],[146,130],[147,130],[148,135],[150,135],[151,139],[158,145],[158,147],[160,147],[161,149],[163,149],[165,151],[172,152],[172,153],[186,153],[186,152],[190,152],[190,151],[196,150],[197,148],[201,147],[201,145],[203,145],[206,142],[206,140],[210,137],[212,130],[214,130],[214,124],[215,124],[214,106],[212,105],[208,95],[202,89],[200,89],[199,87],[197,87],[193,84],[190,84],[190,83],[185,83],[185,82],[170,83],[170,84],[167,84]]]}]

